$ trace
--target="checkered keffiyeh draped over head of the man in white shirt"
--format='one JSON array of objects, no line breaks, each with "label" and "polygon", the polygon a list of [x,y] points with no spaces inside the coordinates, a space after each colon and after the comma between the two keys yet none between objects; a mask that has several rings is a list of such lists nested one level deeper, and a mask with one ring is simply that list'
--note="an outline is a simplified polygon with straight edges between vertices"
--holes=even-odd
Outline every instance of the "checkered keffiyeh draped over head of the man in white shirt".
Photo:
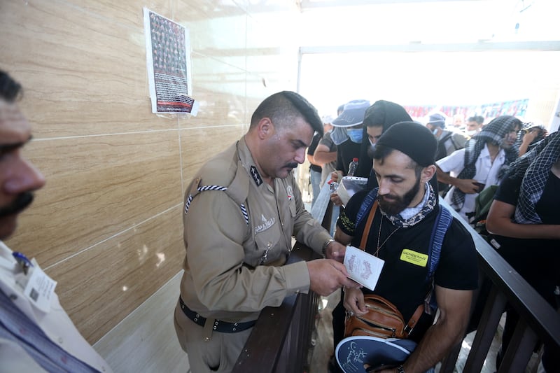
[{"label": "checkered keffiyeh draped over head of the man in white shirt", "polygon": [[[482,131],[472,136],[470,140],[465,143],[465,167],[463,171],[458,174],[457,178],[471,179],[477,173],[476,162],[486,146],[486,143],[493,143],[500,145],[506,134],[512,132],[515,127],[521,127],[521,120],[512,115],[501,115],[494,118],[487,125],[482,127]],[[511,162],[517,159],[519,155],[519,148],[512,146],[510,149],[505,150],[505,162],[498,173],[498,178],[505,174]],[[451,195],[451,206],[459,211],[463,208],[465,203],[465,193],[459,188],[454,188],[453,195]]]}]

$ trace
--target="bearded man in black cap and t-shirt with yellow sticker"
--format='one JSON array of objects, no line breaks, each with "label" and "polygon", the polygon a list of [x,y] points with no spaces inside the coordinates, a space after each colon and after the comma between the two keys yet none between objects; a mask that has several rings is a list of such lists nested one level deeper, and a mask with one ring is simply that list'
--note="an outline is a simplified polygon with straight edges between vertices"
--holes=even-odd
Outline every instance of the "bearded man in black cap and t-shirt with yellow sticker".
[{"label": "bearded man in black cap and t-shirt with yellow sticker", "polygon": [[[407,321],[430,292],[432,283],[426,281],[430,239],[439,210],[444,208],[437,204],[437,193],[428,183],[435,174],[436,149],[433,134],[415,122],[397,123],[379,138],[373,154],[378,207],[370,230],[364,232],[366,218],[357,223],[368,194],[358,192],[341,214],[335,234],[342,244],[359,247],[367,233],[365,251],[384,260],[374,290],[345,290],[344,308],[349,314],[365,314],[364,293],[374,293],[392,302]],[[461,342],[477,276],[475,244],[462,223],[453,218],[433,275],[440,315],[435,323],[433,314],[420,318],[409,336],[418,346],[400,371],[426,372]]]}]

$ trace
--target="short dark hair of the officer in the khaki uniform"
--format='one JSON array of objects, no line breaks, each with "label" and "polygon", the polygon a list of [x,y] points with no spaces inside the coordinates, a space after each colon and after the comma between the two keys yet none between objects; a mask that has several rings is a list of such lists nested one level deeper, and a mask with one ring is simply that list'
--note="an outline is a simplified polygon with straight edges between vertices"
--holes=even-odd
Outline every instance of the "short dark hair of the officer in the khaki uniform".
[{"label": "short dark hair of the officer in the khaki uniform", "polygon": [[267,97],[256,108],[251,116],[251,128],[255,127],[262,118],[270,118],[276,125],[289,126],[296,118],[304,118],[318,134],[323,136],[323,120],[317,109],[309,104],[301,94],[282,91]]}]

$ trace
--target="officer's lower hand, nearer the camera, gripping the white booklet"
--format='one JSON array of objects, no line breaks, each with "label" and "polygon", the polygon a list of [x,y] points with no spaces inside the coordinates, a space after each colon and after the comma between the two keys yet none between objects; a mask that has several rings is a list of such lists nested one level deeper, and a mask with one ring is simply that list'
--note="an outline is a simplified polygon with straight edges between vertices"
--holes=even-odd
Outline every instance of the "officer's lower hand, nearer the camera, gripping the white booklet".
[{"label": "officer's lower hand, nearer the camera, gripping the white booklet", "polygon": [[326,297],[338,288],[358,288],[359,283],[349,279],[346,267],[342,263],[330,259],[317,259],[307,262],[309,269],[309,288],[318,295]]}]

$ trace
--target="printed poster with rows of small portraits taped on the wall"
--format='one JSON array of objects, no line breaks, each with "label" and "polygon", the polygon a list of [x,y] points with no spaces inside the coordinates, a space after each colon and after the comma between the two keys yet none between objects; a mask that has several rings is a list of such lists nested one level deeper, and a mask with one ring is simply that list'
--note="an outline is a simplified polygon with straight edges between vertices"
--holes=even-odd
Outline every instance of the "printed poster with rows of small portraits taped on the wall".
[{"label": "printed poster with rows of small portraits taped on the wall", "polygon": [[188,29],[144,8],[144,31],[152,113],[197,115]]}]

